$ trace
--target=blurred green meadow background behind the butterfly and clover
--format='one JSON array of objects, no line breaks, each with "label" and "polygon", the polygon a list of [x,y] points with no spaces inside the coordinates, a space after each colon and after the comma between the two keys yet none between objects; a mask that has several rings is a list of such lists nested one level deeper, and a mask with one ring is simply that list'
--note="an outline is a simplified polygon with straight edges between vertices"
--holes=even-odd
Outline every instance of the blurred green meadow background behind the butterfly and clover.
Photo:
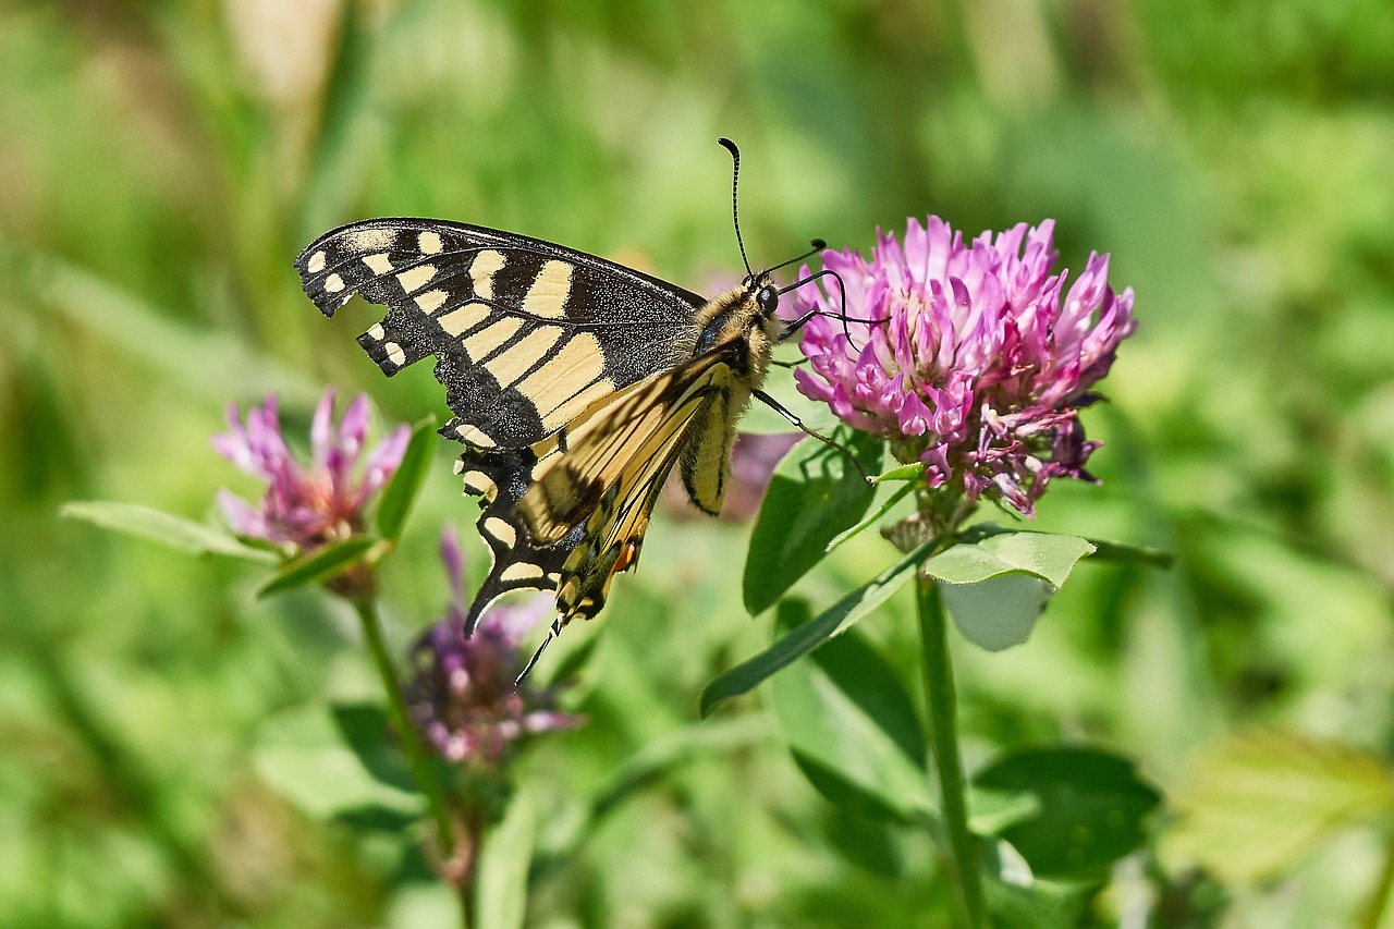
[{"label": "blurred green meadow background behind the butterfly and clover", "polygon": [[[425,365],[389,382],[354,345],[376,315],[300,294],[290,261],[333,225],[463,219],[708,290],[739,266],[718,135],[746,156],[756,264],[931,212],[969,234],[1052,216],[1065,265],[1110,251],[1138,292],[1112,403],[1085,417],[1104,485],[1052,485],[1039,524],[1178,564],[1086,565],[1025,646],[959,649],[970,769],[1090,739],[1170,801],[1250,725],[1384,763],[1387,0],[0,0],[0,925],[452,925],[420,861],[258,767],[266,720],[372,693],[347,614],[57,508],[212,518],[217,485],[254,491],[208,444],[229,402],[279,392],[302,430],[337,384],[386,423],[443,414]],[[453,453],[383,582],[400,644],[442,612],[439,526],[475,512]],[[526,762],[544,848],[626,759],[714,725],[701,685],[768,642],[740,608],[747,533],[661,520],[563,637],[598,640],[572,699],[591,725]],[[891,557],[863,537],[800,590],[831,603]],[[914,682],[909,604],[861,628]],[[924,837],[818,795],[764,693],[717,725],[534,873],[530,925],[945,918]],[[1230,870],[1129,859],[1082,921],[1354,925],[1386,843],[1248,866],[1232,838]]]}]

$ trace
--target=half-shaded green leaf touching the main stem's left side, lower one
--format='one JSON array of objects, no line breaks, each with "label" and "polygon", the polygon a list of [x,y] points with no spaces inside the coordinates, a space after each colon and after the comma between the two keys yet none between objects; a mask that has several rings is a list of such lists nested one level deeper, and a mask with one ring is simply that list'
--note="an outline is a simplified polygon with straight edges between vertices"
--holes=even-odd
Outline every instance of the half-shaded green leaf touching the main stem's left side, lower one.
[{"label": "half-shaded green leaf touching the main stem's left side, lower one", "polygon": [[[797,612],[807,607],[781,604],[782,618]],[[789,749],[828,799],[901,820],[934,813],[914,704],[855,630],[781,674],[771,693]]]}]

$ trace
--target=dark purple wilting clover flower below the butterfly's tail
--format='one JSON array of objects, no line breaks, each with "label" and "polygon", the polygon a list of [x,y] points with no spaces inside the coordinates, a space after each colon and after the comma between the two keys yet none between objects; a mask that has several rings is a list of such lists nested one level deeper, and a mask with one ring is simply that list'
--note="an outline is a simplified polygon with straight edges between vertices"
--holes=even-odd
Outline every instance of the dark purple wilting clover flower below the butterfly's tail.
[{"label": "dark purple wilting clover flower below the butterfly's tail", "polygon": [[552,597],[495,604],[466,639],[464,562],[449,529],[441,538],[441,559],[450,576],[449,612],[417,643],[417,672],[407,686],[411,714],[427,741],[447,762],[496,767],[526,735],[584,725],[585,717],[556,710],[553,690],[535,688],[531,679],[513,683],[527,664],[524,639],[555,608]]}]

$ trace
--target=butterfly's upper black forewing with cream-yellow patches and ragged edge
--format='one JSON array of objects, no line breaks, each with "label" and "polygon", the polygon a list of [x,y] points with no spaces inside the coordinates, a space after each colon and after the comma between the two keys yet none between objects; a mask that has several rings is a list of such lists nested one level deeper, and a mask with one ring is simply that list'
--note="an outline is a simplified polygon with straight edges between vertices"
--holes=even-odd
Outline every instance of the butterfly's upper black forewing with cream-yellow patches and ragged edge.
[{"label": "butterfly's upper black forewing with cream-yellow patches and ragged edge", "polygon": [[[604,258],[434,219],[372,219],[296,259],[333,315],[357,293],[388,314],[358,338],[385,374],[435,356],[442,435],[524,449],[590,405],[691,354],[704,300]],[[675,339],[676,335],[676,339]]]}]

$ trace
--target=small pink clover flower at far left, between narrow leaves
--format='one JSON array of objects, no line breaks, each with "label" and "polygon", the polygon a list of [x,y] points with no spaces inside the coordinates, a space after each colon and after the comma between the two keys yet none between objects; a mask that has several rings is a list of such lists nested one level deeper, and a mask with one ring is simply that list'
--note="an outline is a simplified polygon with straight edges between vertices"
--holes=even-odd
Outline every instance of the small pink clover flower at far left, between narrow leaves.
[{"label": "small pink clover flower at far left, between narrow leaves", "polygon": [[364,509],[401,464],[411,430],[395,428],[360,467],[368,432],[368,398],[360,393],[337,428],[333,406],[330,388],[309,427],[309,464],[296,460],[286,446],[275,396],[265,406],[248,410],[245,423],[238,418],[236,403],[227,407],[231,430],[213,437],[213,449],[266,481],[259,506],[227,490],[217,492],[233,531],[311,551],[362,529]]}]

